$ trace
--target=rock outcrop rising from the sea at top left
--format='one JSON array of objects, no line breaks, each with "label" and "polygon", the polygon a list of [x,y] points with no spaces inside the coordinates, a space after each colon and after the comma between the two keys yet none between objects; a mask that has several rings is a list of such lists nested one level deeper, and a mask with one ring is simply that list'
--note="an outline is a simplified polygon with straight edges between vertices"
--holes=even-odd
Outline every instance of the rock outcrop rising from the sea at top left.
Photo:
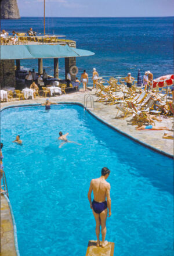
[{"label": "rock outcrop rising from the sea at top left", "polygon": [[0,0],[0,18],[1,19],[20,19],[17,0]]}]

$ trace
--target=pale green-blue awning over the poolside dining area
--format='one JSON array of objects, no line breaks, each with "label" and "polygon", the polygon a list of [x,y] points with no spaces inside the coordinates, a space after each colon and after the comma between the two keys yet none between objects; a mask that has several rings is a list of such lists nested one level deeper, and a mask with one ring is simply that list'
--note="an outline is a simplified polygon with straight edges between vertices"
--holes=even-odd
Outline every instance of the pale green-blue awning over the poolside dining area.
[{"label": "pale green-blue awning over the poolside dining area", "polygon": [[68,45],[1,45],[0,59],[46,59],[92,56],[93,52]]}]

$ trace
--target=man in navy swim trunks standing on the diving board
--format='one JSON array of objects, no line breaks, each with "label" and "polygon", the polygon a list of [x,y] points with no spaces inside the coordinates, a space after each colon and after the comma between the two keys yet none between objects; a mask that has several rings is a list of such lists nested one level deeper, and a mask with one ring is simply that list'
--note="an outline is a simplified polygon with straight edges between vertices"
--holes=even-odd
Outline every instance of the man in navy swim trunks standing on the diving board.
[{"label": "man in navy swim trunks standing on the diving board", "polygon": [[[93,211],[93,215],[96,220],[96,236],[97,246],[100,246],[100,225],[102,226],[102,247],[108,244],[105,241],[106,237],[106,218],[107,218],[107,207],[108,217],[111,216],[111,198],[110,198],[110,183],[106,182],[106,179],[110,175],[110,170],[107,167],[102,169],[102,176],[98,179],[92,179],[88,191],[88,200],[90,208]],[[94,200],[91,201],[91,193],[93,191]],[[106,201],[107,198],[107,201]]]}]

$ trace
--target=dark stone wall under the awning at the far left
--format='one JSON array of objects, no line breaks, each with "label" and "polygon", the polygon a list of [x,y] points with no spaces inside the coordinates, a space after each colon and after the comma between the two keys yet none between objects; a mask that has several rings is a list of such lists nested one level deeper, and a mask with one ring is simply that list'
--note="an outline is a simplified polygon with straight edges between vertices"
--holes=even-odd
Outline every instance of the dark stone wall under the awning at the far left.
[{"label": "dark stone wall under the awning at the far left", "polygon": [[15,87],[14,60],[3,60],[0,62],[0,85],[3,87]]}]

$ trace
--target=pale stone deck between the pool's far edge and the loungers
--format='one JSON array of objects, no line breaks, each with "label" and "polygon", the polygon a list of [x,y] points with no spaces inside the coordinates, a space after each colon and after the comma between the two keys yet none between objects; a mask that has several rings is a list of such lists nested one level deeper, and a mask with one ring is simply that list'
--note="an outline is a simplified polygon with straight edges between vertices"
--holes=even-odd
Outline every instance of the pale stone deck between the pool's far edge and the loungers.
[{"label": "pale stone deck between the pool's far edge and the loungers", "polygon": [[[92,95],[94,101],[96,101],[97,97],[95,95],[95,90],[86,92],[89,95]],[[77,93],[70,94],[62,94],[57,97],[50,97],[51,102],[78,102],[80,104],[84,104],[84,92],[82,89]],[[28,99],[24,101],[10,101],[1,103],[1,109],[10,105],[23,105],[23,104],[41,104],[46,101],[46,98],[37,97],[35,99]],[[89,106],[88,101],[88,106]],[[115,105],[106,105],[104,103],[95,102],[95,109],[90,109],[92,113],[94,113],[98,118],[102,119],[104,122],[107,122],[109,125],[114,126],[118,130],[122,131],[128,136],[132,136],[136,140],[141,141],[151,147],[157,148],[158,150],[164,151],[167,154],[173,155],[173,140],[162,138],[163,134],[169,133],[170,131],[153,131],[153,130],[141,130],[136,131],[135,126],[132,126],[129,122],[132,117],[128,117],[125,119],[119,118],[115,119],[117,108]],[[156,126],[167,126],[170,129],[172,128],[173,117],[162,118],[162,122],[156,122]]]}]

